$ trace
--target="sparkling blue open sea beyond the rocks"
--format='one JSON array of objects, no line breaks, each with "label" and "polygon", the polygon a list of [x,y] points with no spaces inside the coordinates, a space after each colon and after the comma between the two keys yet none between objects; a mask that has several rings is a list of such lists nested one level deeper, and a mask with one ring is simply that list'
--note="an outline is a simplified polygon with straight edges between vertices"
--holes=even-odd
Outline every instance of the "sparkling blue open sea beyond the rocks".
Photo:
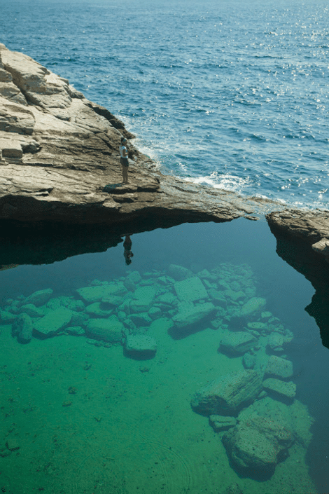
[{"label": "sparkling blue open sea beyond the rocks", "polygon": [[329,207],[323,1],[1,0],[0,41],[69,78],[170,172]]}]

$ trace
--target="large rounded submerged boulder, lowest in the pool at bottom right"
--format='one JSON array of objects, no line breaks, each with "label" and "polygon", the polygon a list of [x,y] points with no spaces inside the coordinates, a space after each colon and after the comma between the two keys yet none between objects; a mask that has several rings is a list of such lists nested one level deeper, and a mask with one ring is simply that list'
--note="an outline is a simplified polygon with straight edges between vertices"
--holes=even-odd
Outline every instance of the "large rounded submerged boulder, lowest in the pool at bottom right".
[{"label": "large rounded submerged boulder, lowest in the pool at bottom right", "polygon": [[225,432],[222,440],[239,469],[270,476],[293,444],[293,433],[279,422],[252,416]]}]

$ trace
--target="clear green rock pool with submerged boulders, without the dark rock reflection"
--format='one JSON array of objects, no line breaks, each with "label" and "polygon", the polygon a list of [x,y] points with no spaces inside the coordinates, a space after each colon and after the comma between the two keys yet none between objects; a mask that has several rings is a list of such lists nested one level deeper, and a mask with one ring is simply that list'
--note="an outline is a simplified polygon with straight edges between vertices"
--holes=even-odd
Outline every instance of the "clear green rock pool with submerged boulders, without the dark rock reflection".
[{"label": "clear green rock pool with submerged boulders, without the dark rock reflection", "polygon": [[122,238],[0,271],[3,492],[328,492],[329,350],[265,219]]}]

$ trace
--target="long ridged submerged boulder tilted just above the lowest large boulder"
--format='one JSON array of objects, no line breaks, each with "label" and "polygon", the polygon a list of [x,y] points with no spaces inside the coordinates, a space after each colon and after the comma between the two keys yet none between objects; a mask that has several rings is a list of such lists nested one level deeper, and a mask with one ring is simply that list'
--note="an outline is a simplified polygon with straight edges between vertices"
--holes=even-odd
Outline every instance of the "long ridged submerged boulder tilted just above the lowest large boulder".
[{"label": "long ridged submerged boulder tilted just above the lowest large boulder", "polygon": [[191,400],[194,411],[201,415],[235,416],[262,390],[262,376],[246,370],[225,374],[195,393]]}]

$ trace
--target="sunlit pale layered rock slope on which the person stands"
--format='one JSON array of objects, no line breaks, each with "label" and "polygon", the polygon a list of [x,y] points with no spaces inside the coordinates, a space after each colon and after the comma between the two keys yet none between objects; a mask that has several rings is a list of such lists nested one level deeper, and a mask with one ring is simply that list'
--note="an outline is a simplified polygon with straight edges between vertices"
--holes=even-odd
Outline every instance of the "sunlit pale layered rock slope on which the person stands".
[{"label": "sunlit pale layered rock slope on which the person stands", "polygon": [[0,44],[0,219],[230,221],[273,209],[266,200],[165,176],[132,142],[130,184],[122,186],[122,135],[134,137],[69,81]]}]

